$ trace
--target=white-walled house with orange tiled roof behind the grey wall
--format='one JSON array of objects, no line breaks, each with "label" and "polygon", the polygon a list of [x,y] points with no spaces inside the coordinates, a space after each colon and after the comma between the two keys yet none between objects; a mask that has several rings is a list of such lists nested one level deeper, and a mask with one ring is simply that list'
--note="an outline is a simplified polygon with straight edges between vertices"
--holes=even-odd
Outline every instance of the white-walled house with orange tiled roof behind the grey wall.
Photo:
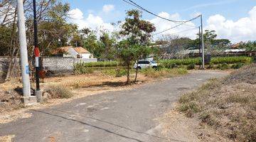
[{"label": "white-walled house with orange tiled roof behind the grey wall", "polygon": [[90,59],[93,58],[92,53],[82,47],[73,48],[73,46],[65,46],[62,48],[58,48],[53,52],[53,55],[57,57],[64,58],[83,58]]}]

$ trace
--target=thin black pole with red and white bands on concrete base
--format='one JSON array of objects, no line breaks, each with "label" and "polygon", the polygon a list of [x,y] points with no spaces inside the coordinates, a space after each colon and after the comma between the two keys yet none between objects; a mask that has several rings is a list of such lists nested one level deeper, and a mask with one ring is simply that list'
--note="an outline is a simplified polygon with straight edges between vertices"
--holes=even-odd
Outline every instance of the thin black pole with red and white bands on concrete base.
[{"label": "thin black pole with red and white bands on concrete base", "polygon": [[36,67],[36,97],[38,99],[38,102],[43,101],[42,92],[40,90],[40,79],[39,79],[39,57],[40,57],[40,51],[38,48],[38,26],[37,26],[37,16],[36,16],[36,0],[33,0],[33,26],[34,26],[34,54],[35,54],[35,67]]}]

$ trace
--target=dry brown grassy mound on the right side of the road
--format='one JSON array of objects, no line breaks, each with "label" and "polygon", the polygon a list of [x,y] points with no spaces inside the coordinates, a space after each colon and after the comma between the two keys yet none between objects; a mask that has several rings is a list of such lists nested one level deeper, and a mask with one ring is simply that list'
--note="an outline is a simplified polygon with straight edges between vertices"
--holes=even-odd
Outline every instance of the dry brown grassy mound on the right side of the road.
[{"label": "dry brown grassy mound on the right side of the road", "polygon": [[232,141],[256,141],[256,65],[210,80],[179,99],[178,110]]}]

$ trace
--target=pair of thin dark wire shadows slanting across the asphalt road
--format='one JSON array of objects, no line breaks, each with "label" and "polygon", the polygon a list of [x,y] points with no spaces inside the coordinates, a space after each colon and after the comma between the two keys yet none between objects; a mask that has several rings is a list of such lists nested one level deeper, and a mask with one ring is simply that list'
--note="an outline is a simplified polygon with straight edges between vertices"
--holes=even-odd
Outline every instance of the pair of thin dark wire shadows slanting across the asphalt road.
[{"label": "pair of thin dark wire shadows slanting across the asphalt road", "polygon": [[[75,120],[75,119],[69,119],[69,118],[66,118],[66,117],[64,117],[64,116],[59,116],[59,115],[57,115],[57,114],[50,114],[49,112],[46,112],[46,111],[39,111],[39,110],[34,110],[34,109],[32,109],[32,110],[33,110],[33,111],[37,111],[37,112],[41,112],[41,113],[43,113],[43,114],[48,114],[48,115],[51,115],[51,116],[58,116],[58,117],[60,117],[60,118],[68,119],[68,120],[70,120],[70,121],[77,121],[77,122],[79,122],[79,123],[81,123],[81,124],[85,124],[85,125],[87,125],[87,126],[92,126],[92,127],[96,128],[96,129],[101,129],[101,130],[103,130],[103,131],[107,131],[108,133],[113,133],[113,134],[115,134],[115,135],[117,135],[117,136],[121,136],[121,137],[123,137],[123,138],[129,138],[129,139],[132,139],[132,140],[134,140],[134,141],[143,142],[143,141],[141,141],[141,140],[139,140],[139,139],[137,139],[137,138],[130,138],[130,137],[128,137],[128,136],[124,136],[124,135],[122,135],[122,134],[115,133],[115,132],[113,132],[113,131],[100,128],[99,126],[94,126],[94,125],[92,125],[92,124],[87,124],[87,123],[82,122],[82,121],[78,121],[78,120]],[[176,139],[173,139],[173,138],[163,138],[163,137],[161,137],[161,136],[155,136],[155,135],[151,135],[151,134],[149,134],[149,133],[145,133],[145,132],[141,132],[141,131],[135,131],[135,130],[133,130],[133,129],[129,129],[129,128],[124,127],[124,126],[119,126],[119,125],[113,124],[112,122],[109,122],[109,121],[104,121],[104,120],[101,120],[101,119],[96,119],[96,118],[91,117],[91,116],[85,116],[85,115],[81,115],[81,114],[75,114],[75,113],[70,112],[70,111],[63,111],[63,110],[59,110],[59,109],[50,109],[50,110],[59,111],[59,112],[65,113],[65,114],[73,114],[73,115],[75,115],[75,116],[85,117],[85,118],[93,119],[93,120],[96,120],[96,121],[101,121],[101,122],[103,122],[103,123],[105,123],[105,124],[110,124],[110,125],[112,125],[112,126],[117,126],[117,127],[121,128],[121,129],[125,129],[125,130],[128,130],[128,131],[132,131],[132,132],[134,132],[134,133],[140,133],[140,134],[143,134],[143,135],[146,135],[146,136],[151,136],[151,137],[154,137],[154,138],[159,138],[159,139],[165,140],[165,141],[180,141],[180,140],[176,140]],[[180,141],[180,142],[183,142],[183,141]]]}]

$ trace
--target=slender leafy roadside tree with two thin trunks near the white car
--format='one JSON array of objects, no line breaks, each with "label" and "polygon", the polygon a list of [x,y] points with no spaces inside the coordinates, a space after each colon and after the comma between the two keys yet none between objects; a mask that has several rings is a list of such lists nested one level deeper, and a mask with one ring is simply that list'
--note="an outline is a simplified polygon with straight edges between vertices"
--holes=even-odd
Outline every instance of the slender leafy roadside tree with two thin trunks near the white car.
[{"label": "slender leafy roadside tree with two thin trunks near the white car", "polygon": [[[148,47],[151,33],[156,31],[154,24],[149,21],[141,20],[140,18],[142,18],[141,11],[127,11],[127,17],[122,24],[122,30],[119,32],[124,40],[117,45],[117,55],[119,60],[121,60],[127,68],[127,83],[130,82],[130,65],[132,62],[136,62],[140,58],[149,55],[150,52],[145,53],[140,51],[144,51]],[[137,80],[137,72],[138,68],[135,81]]]}]

